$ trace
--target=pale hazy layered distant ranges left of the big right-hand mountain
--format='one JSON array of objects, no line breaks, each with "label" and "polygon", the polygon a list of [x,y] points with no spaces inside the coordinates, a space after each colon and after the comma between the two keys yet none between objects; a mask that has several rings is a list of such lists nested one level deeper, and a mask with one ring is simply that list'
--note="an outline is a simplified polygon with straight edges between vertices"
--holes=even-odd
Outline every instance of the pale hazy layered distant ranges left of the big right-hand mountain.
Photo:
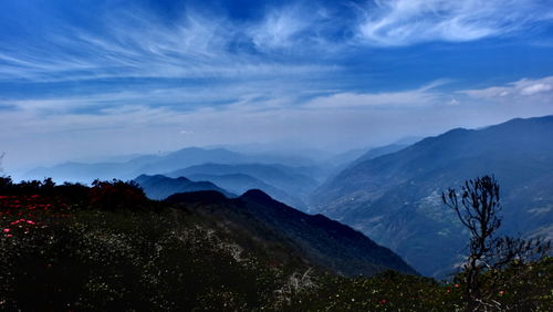
[{"label": "pale hazy layered distant ranges left of the big right-hand mountain", "polygon": [[[140,175],[163,174],[194,181],[209,181],[219,186],[217,190],[222,193],[226,189],[233,194],[242,194],[248,189],[259,188],[290,206],[307,210],[307,199],[311,193],[326,179],[330,173],[334,171],[333,166],[309,162],[305,157],[284,154],[273,156],[241,154],[225,148],[188,147],[167,155],[143,155],[128,158],[131,159],[123,158],[121,162],[64,163],[49,168],[40,167],[28,171],[25,178],[51,177],[59,183],[88,184],[95,179],[129,180]],[[294,162],[299,165],[286,165],[294,164]],[[187,186],[182,188],[182,184]],[[173,189],[167,188],[166,185],[155,187],[164,198],[170,195],[166,191]],[[174,190],[178,189],[195,190],[189,181],[185,180],[180,180],[179,186]],[[207,189],[216,188],[205,185],[196,190]],[[153,189],[147,189],[149,195],[153,195],[152,191]],[[161,199],[157,195],[152,198]]]}]

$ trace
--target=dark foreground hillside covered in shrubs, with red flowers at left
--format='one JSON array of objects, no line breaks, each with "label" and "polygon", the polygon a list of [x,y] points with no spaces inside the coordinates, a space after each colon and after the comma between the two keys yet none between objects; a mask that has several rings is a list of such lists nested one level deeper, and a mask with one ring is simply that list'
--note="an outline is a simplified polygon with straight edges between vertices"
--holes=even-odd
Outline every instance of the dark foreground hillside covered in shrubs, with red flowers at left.
[{"label": "dark foreground hillside covered in shrubs, with red flowers at left", "polygon": [[[0,194],[0,310],[461,311],[465,304],[460,278],[347,277],[306,257],[283,239],[298,223],[268,229],[251,212],[281,205],[260,191],[233,204],[218,193],[152,201],[116,180],[85,187],[1,178]],[[321,217],[305,222],[331,223],[336,237],[356,236]],[[493,298],[504,306],[551,308],[550,258],[495,274],[517,278]],[[483,278],[493,287],[497,280]]]}]

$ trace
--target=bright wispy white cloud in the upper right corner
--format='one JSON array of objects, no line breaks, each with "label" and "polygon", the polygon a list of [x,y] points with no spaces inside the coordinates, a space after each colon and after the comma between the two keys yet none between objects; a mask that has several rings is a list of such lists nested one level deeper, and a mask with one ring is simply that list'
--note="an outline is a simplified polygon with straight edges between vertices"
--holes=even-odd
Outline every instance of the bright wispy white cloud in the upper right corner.
[{"label": "bright wispy white cloud in the upper right corner", "polygon": [[364,11],[359,34],[375,45],[472,41],[528,29],[552,12],[539,0],[376,0]]}]

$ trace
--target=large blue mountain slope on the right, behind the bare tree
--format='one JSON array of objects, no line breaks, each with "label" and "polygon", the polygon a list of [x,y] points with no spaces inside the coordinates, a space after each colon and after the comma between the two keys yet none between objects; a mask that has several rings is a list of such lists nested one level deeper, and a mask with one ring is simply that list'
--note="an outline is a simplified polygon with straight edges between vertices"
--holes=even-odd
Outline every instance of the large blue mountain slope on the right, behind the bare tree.
[{"label": "large blue mountain slope on the right, behind the bare tree", "polygon": [[314,193],[312,208],[441,277],[462,259],[468,238],[441,193],[467,179],[495,176],[503,232],[553,237],[552,137],[553,116],[452,129],[347,167]]}]

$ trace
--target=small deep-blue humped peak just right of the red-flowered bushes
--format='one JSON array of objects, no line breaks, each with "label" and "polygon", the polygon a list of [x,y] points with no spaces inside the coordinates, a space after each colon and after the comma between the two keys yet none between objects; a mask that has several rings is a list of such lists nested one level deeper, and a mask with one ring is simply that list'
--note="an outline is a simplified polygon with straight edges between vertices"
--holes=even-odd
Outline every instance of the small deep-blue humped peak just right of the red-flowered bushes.
[{"label": "small deep-blue humped peak just right of the red-flowered bushes", "polygon": [[216,190],[225,194],[227,197],[236,196],[210,181],[191,181],[185,177],[169,178],[161,175],[140,175],[134,181],[142,187],[146,196],[150,199],[165,199],[177,193],[198,190]]}]

